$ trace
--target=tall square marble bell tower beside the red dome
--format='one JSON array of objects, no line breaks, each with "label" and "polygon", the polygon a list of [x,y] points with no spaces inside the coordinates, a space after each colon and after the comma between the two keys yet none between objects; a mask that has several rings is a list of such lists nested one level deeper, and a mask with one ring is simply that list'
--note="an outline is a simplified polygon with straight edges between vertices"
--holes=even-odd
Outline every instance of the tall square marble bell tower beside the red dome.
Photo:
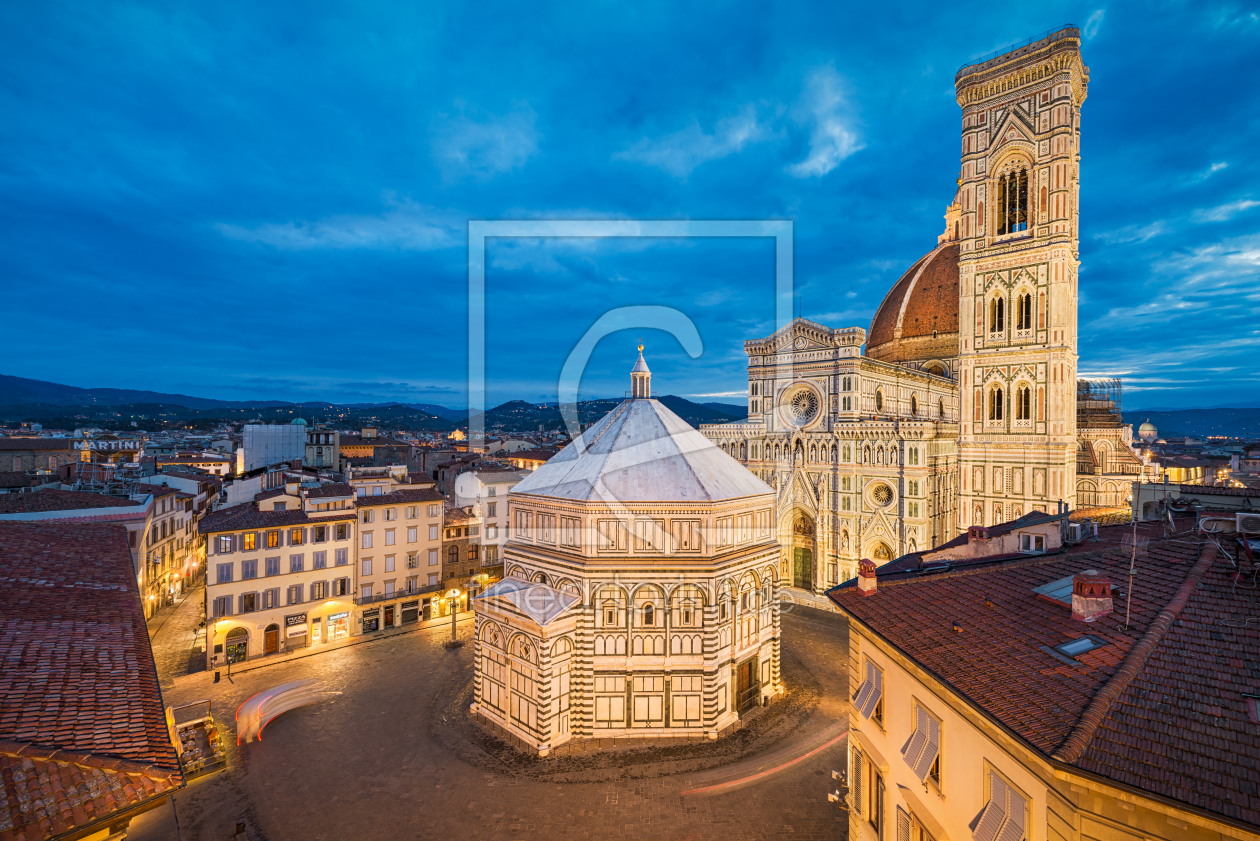
[{"label": "tall square marble bell tower beside the red dome", "polygon": [[1075,507],[1080,30],[955,77],[959,525]]}]

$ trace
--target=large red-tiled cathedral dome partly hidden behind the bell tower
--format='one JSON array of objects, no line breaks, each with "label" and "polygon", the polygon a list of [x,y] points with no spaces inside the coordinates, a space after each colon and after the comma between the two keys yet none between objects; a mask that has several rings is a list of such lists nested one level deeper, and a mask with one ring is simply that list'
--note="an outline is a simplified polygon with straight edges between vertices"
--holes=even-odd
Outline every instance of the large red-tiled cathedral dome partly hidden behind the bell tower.
[{"label": "large red-tiled cathedral dome partly hidden behind the bell tower", "polygon": [[958,242],[924,255],[901,276],[871,319],[866,354],[881,362],[958,357]]}]

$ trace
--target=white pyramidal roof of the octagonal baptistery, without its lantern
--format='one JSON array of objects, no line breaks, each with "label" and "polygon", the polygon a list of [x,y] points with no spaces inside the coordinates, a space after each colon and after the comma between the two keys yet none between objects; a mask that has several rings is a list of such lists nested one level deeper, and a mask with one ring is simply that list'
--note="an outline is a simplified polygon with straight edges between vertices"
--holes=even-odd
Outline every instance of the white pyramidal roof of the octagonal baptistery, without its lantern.
[{"label": "white pyramidal roof of the octagonal baptistery, without its lantern", "polygon": [[523,493],[593,503],[706,503],[774,489],[660,401],[631,397],[512,489]]}]

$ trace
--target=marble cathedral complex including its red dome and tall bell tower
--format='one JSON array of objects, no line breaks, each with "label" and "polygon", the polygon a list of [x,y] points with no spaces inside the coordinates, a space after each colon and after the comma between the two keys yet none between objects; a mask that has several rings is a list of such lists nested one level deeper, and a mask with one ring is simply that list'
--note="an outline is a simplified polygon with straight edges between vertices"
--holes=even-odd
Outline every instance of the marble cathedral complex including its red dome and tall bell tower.
[{"label": "marble cathedral complex including its red dome and tall bell tower", "polygon": [[820,591],[862,557],[1076,507],[1079,454],[1099,446],[1077,440],[1087,84],[1071,26],[960,69],[945,231],[869,333],[798,319],[745,343],[748,420],[702,432],[775,488],[785,583]]}]

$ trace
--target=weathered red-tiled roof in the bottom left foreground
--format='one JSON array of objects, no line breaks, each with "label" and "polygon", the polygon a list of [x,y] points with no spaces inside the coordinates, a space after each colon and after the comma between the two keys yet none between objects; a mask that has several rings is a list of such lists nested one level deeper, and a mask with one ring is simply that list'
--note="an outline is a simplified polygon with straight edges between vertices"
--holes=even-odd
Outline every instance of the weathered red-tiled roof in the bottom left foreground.
[{"label": "weathered red-tiled roof in the bottom left foreground", "polygon": [[0,522],[0,837],[62,835],[183,786],[126,530]]}]

